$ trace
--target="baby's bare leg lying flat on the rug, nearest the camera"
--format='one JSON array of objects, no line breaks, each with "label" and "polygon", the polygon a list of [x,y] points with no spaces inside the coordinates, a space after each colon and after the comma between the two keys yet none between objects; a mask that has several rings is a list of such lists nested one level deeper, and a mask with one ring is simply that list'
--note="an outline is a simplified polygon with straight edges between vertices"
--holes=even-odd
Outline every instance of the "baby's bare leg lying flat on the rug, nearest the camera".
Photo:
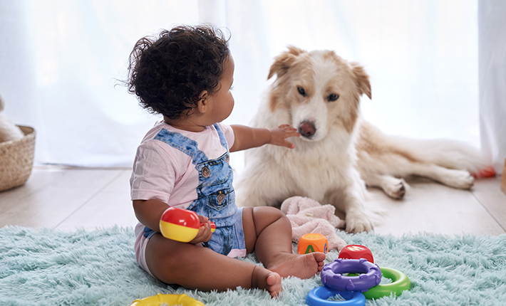
[{"label": "baby's bare leg lying flat on the rug, nearest the camera", "polygon": [[281,291],[281,277],[253,263],[229,258],[209,248],[180,243],[156,233],[146,246],[146,263],[151,273],[167,284],[203,291],[258,287],[275,297]]}]

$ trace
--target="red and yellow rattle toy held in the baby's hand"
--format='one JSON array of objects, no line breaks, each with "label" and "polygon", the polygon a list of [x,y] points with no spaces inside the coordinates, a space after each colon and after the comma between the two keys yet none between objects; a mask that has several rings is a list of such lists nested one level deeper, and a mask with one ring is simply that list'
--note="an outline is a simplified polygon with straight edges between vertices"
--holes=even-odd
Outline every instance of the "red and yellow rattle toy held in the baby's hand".
[{"label": "red and yellow rattle toy held in the baby's hand", "polygon": [[[165,238],[180,242],[190,242],[197,236],[200,226],[199,216],[195,211],[169,207],[160,218],[160,231]],[[214,233],[216,224],[211,222],[211,232]]]}]

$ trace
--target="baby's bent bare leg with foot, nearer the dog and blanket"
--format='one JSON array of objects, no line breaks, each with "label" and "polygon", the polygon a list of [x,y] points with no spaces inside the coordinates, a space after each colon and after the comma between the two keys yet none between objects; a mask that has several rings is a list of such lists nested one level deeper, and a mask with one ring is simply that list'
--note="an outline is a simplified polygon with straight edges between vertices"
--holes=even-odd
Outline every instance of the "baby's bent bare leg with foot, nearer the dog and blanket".
[{"label": "baby's bent bare leg with foot, nearer the dog and blanket", "polygon": [[258,260],[282,278],[311,278],[323,268],[324,253],[291,253],[291,223],[279,209],[244,207],[242,226],[247,252],[255,251]]}]

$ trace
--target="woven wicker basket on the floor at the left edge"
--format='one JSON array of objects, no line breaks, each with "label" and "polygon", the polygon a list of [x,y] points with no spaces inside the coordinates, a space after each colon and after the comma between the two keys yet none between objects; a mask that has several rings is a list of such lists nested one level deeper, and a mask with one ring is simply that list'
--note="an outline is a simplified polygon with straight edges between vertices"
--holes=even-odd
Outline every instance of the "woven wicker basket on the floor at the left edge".
[{"label": "woven wicker basket on the floor at the left edge", "polygon": [[31,174],[35,152],[35,130],[33,127],[21,125],[19,128],[25,137],[0,142],[0,191],[25,184]]}]

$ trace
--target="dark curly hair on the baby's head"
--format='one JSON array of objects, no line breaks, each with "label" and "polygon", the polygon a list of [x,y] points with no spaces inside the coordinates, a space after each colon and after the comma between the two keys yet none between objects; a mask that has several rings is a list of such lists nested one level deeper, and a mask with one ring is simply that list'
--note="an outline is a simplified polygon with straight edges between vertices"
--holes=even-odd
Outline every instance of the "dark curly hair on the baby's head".
[{"label": "dark curly hair on the baby's head", "polygon": [[177,26],[135,43],[128,65],[128,92],[151,113],[177,119],[189,113],[202,90],[220,90],[229,38],[209,25]]}]

